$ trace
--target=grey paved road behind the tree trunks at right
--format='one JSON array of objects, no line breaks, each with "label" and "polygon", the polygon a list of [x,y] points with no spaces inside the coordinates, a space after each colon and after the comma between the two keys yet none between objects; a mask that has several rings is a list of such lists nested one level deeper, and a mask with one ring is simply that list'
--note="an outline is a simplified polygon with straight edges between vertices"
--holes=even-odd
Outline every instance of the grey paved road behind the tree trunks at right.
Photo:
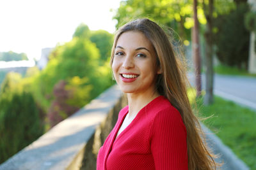
[{"label": "grey paved road behind the tree trunks at right", "polygon": [[[191,85],[194,76],[188,74]],[[202,89],[205,89],[205,75],[202,74]],[[256,110],[256,78],[215,74],[214,94]]]}]

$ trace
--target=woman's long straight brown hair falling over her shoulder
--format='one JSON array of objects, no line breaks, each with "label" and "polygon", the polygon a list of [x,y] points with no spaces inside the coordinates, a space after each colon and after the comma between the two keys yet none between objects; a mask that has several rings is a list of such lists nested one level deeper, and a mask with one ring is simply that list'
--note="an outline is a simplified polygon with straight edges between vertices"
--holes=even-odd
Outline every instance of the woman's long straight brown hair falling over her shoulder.
[{"label": "woman's long straight brown hair falling over her shoulder", "polygon": [[173,45],[167,34],[155,22],[147,18],[133,20],[120,27],[116,32],[112,53],[111,65],[115,54],[115,47],[120,35],[127,31],[140,31],[152,43],[157,54],[157,66],[162,74],[157,77],[156,89],[179,110],[187,130],[188,169],[216,169],[216,163],[209,152],[200,127],[198,118],[193,114],[186,87],[189,84],[186,78],[186,69],[182,68],[180,60],[175,56]]}]

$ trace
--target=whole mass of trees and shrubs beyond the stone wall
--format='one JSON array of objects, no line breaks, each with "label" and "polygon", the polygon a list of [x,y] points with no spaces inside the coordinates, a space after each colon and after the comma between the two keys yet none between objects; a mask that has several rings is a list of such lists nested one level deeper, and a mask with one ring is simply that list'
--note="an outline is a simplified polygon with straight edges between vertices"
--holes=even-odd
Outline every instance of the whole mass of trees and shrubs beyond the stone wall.
[{"label": "whole mass of trees and shrubs beyond the stone wall", "polygon": [[112,43],[109,32],[81,24],[71,41],[54,48],[42,71],[1,72],[0,163],[113,85]]}]

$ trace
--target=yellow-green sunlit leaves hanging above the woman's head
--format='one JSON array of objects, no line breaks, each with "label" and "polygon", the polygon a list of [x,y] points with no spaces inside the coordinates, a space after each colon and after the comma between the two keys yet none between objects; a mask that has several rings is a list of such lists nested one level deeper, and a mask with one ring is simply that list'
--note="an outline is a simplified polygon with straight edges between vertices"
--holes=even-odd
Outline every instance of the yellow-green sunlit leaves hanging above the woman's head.
[{"label": "yellow-green sunlit leaves hanging above the woman's head", "polygon": [[[204,30],[204,25],[207,23],[205,13],[208,13],[208,11],[207,8],[204,8],[204,3],[207,5],[209,1],[198,1],[197,6],[198,21],[202,24],[200,30]],[[214,16],[217,17],[221,14],[227,14],[230,10],[234,9],[234,7],[235,5],[233,1],[215,0]],[[113,18],[117,20],[118,23],[116,24],[116,28],[118,28],[120,25],[124,25],[130,20],[140,17],[147,17],[157,21],[160,25],[171,27],[175,32],[178,32],[179,37],[184,42],[191,40],[191,27],[194,25],[193,1],[191,0],[121,1],[120,7],[115,11],[115,16]],[[180,38],[175,39],[180,40]]]}]

